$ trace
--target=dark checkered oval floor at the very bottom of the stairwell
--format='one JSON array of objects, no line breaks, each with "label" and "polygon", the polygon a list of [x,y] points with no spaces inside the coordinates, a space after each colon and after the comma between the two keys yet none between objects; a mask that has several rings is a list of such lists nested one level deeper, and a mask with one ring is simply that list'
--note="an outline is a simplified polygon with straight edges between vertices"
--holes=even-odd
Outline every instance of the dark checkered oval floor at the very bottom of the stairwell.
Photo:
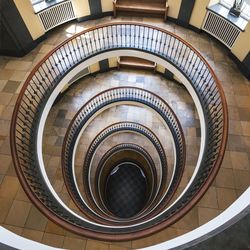
[{"label": "dark checkered oval floor at the very bottom of the stairwell", "polygon": [[137,164],[125,162],[110,172],[105,190],[107,209],[119,218],[137,215],[148,201],[146,176]]}]

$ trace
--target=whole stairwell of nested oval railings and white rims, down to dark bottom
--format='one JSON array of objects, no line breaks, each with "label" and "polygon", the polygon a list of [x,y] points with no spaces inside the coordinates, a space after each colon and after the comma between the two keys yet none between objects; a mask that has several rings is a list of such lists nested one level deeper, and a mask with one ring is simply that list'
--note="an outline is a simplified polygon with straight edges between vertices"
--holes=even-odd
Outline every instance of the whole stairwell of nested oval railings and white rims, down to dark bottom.
[{"label": "whole stairwell of nested oval railings and white rims, down to dark bottom", "polygon": [[[177,192],[186,166],[186,142],[183,127],[168,100],[134,86],[106,89],[85,100],[64,137],[61,169],[70,199],[77,208],[73,210],[56,193],[46,172],[45,123],[53,103],[72,77],[100,60],[118,56],[147,58],[181,80],[199,115],[197,163],[187,186]],[[110,123],[90,142],[79,178],[75,162],[84,131],[101,113],[119,105],[152,112],[161,120],[165,135],[159,137],[152,128],[135,121]],[[105,142],[124,133],[144,138],[150,150],[135,140],[117,143],[103,153]],[[14,109],[11,150],[23,189],[50,220],[85,237],[125,241],[158,232],[194,207],[220,168],[227,133],[228,112],[222,87],[194,47],[164,29],[112,22],[70,37],[32,70]],[[171,141],[173,161],[163,147],[164,140]]]}]

